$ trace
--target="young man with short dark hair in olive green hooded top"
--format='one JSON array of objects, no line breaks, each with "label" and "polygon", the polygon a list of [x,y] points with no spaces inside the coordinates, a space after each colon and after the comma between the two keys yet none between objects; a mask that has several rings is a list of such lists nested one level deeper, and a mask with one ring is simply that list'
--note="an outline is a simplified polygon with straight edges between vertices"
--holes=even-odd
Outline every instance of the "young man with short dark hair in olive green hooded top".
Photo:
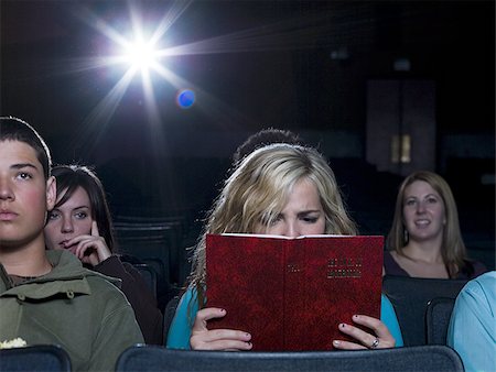
[{"label": "young man with short dark hair in olive green hooded top", "polygon": [[46,251],[56,195],[50,168],[36,131],[0,118],[0,341],[56,343],[74,371],[111,371],[143,338],[117,280],[84,269],[71,252]]}]

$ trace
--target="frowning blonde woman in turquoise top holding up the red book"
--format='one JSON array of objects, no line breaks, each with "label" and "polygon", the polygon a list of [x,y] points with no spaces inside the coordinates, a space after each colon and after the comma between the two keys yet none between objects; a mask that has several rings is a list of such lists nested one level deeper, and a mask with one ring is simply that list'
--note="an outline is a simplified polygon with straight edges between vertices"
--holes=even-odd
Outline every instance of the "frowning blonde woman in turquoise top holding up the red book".
[{"label": "frowning blonde woman in turquoise top holding up the red book", "polygon": [[[224,317],[226,311],[205,308],[205,237],[225,232],[353,236],[357,229],[346,212],[333,171],[314,149],[279,143],[254,151],[227,178],[214,203],[194,251],[187,289],[169,330],[169,348],[250,350],[252,347],[249,329],[207,329],[209,319]],[[341,324],[339,330],[356,342],[334,340],[333,346],[375,349],[402,344],[396,314],[385,296],[381,319],[364,315],[353,318],[368,331]]]}]

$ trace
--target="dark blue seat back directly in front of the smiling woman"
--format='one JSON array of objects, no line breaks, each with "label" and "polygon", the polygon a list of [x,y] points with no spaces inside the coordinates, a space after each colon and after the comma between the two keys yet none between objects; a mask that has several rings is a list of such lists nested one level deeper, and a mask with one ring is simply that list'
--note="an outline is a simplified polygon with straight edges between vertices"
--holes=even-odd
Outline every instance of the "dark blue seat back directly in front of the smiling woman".
[{"label": "dark blue seat back directly in front of the smiling woman", "polygon": [[405,346],[427,344],[425,311],[435,297],[456,298],[466,280],[439,280],[386,275],[382,292],[391,300]]}]

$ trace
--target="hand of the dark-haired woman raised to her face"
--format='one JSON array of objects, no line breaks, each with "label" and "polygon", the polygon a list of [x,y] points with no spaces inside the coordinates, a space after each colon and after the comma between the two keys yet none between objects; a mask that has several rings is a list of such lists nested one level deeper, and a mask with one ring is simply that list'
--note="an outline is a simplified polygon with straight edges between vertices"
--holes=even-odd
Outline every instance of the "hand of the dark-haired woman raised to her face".
[{"label": "hand of the dark-haired woman raised to her face", "polygon": [[73,252],[83,263],[96,266],[107,260],[112,253],[107,247],[105,239],[98,232],[96,221],[91,222],[90,236],[79,236],[67,241],[68,250]]}]

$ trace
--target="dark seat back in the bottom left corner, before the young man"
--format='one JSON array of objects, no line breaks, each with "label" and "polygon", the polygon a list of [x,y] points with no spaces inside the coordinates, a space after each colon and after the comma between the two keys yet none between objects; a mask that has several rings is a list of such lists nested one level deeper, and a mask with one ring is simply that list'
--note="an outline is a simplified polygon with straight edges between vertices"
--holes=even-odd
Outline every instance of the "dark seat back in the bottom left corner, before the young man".
[{"label": "dark seat back in the bottom left corner, before the young man", "polygon": [[69,372],[71,368],[67,352],[54,344],[0,350],[0,371]]}]

